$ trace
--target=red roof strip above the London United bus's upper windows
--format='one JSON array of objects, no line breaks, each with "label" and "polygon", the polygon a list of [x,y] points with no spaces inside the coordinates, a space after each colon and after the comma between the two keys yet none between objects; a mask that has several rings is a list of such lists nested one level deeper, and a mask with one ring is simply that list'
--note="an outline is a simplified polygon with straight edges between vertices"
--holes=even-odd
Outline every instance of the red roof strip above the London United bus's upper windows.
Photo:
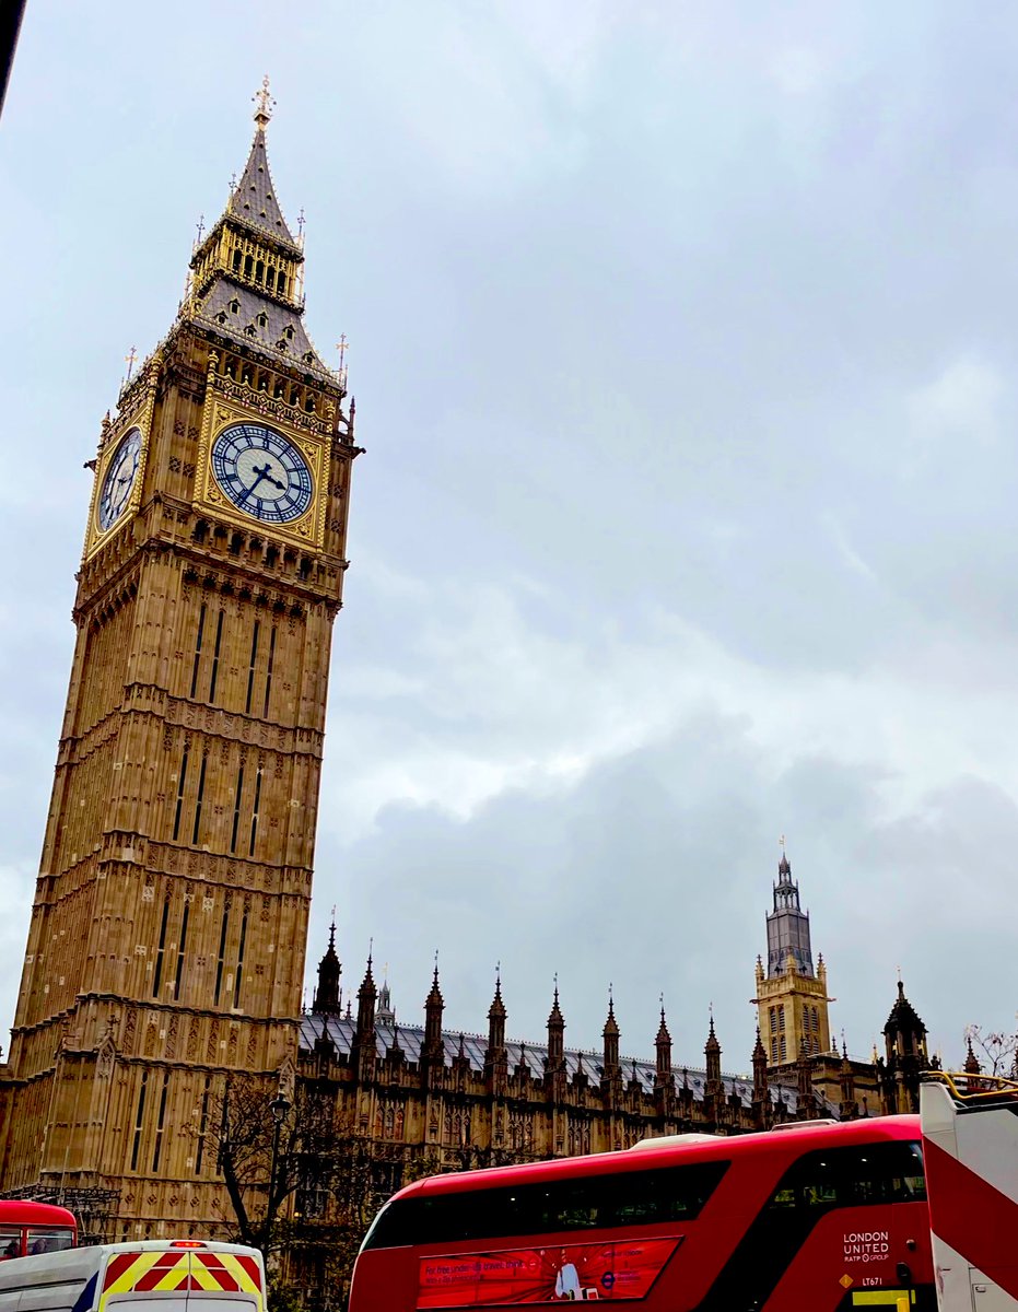
[{"label": "red roof strip above the London United bus's upper windows", "polygon": [[457,1194],[495,1185],[522,1185],[542,1179],[582,1178],[585,1176],[614,1174],[627,1170],[647,1170],[649,1166],[673,1165],[682,1161],[718,1161],[732,1156],[798,1157],[812,1148],[837,1148],[842,1144],[874,1143],[880,1139],[920,1139],[920,1118],[866,1117],[837,1124],[816,1124],[808,1120],[790,1124],[783,1130],[769,1130],[752,1135],[718,1135],[711,1139],[697,1135],[687,1143],[665,1139],[660,1148],[641,1147],[638,1151],[589,1153],[585,1157],[558,1157],[552,1161],[526,1162],[513,1166],[488,1166],[481,1170],[459,1170],[443,1176],[426,1176],[407,1185],[392,1195],[408,1198],[420,1193]]}]

